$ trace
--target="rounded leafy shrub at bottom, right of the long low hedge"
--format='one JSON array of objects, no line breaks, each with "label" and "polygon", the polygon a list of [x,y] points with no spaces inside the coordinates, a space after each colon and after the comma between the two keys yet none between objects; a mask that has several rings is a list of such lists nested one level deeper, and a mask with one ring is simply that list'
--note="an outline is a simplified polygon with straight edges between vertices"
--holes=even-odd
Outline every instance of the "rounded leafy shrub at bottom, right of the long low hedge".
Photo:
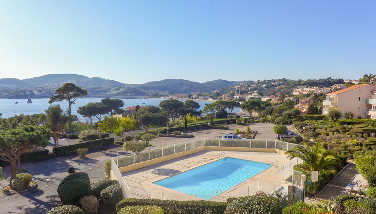
[{"label": "rounded leafy shrub at bottom, right of the long low hedge", "polygon": [[238,197],[228,204],[225,214],[280,214],[282,206],[276,197],[253,195]]}]

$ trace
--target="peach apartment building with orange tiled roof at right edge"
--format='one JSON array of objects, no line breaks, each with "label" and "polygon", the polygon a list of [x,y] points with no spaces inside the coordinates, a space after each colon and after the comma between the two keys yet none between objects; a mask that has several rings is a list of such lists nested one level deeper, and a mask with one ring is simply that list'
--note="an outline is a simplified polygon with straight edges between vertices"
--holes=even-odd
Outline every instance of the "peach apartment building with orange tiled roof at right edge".
[{"label": "peach apartment building with orange tiled roof at right edge", "polygon": [[323,100],[323,114],[330,109],[340,110],[342,118],[350,111],[355,119],[376,119],[376,86],[361,84],[328,93]]}]

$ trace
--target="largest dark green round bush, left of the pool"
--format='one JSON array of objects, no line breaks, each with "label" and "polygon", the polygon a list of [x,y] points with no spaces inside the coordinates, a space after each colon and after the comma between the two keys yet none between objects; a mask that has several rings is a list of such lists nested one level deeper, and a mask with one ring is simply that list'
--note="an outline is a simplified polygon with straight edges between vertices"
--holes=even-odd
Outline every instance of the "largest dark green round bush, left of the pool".
[{"label": "largest dark green round bush, left of the pool", "polygon": [[68,175],[61,181],[57,193],[63,204],[79,205],[80,198],[90,191],[90,179],[86,172]]}]

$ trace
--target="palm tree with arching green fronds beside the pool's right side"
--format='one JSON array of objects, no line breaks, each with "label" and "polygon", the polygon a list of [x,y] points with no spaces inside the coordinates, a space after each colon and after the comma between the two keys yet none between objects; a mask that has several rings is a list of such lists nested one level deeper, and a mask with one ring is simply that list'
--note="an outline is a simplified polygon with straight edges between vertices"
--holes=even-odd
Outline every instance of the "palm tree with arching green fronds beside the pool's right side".
[{"label": "palm tree with arching green fronds beside the pool's right side", "polygon": [[322,142],[316,145],[304,143],[304,146],[297,146],[294,150],[285,153],[289,159],[300,158],[306,163],[311,171],[321,171],[324,167],[334,166],[340,163],[336,154],[323,147]]}]

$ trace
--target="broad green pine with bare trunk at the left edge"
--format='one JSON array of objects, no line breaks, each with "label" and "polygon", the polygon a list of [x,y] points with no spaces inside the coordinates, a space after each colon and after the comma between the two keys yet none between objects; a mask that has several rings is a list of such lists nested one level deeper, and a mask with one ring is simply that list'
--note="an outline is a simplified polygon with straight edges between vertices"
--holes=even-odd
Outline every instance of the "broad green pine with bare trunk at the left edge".
[{"label": "broad green pine with bare trunk at the left edge", "polygon": [[[22,126],[0,130],[0,160],[10,163],[10,179],[15,179],[18,158],[33,146],[43,145],[50,136],[45,126]],[[10,183],[12,188],[12,182]]]}]

